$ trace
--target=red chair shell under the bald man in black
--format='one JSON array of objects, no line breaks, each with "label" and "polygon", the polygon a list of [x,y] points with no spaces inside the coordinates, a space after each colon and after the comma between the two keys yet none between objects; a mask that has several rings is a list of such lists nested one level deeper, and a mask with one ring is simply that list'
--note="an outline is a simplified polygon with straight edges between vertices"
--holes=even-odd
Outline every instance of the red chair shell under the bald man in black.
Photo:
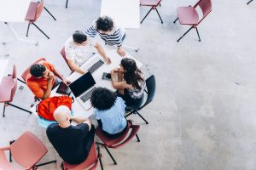
[{"label": "red chair shell under the bald man in black", "polygon": [[64,169],[70,170],[80,170],[85,169],[86,167],[90,167],[97,164],[97,155],[96,155],[96,145],[95,143],[91,145],[90,152],[85,161],[80,163],[79,165],[71,165],[64,161]]}]

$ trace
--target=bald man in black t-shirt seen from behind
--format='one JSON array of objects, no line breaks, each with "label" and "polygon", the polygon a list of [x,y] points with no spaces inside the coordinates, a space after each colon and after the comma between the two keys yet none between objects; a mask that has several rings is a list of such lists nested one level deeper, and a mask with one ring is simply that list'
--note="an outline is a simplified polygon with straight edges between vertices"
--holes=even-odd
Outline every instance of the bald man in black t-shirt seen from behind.
[{"label": "bald man in black t-shirt seen from behind", "polygon": [[[55,121],[46,129],[49,142],[61,158],[69,164],[82,163],[90,152],[94,142],[95,127],[89,119],[71,116],[66,105],[60,105],[54,112]],[[76,126],[70,121],[79,123]]]}]

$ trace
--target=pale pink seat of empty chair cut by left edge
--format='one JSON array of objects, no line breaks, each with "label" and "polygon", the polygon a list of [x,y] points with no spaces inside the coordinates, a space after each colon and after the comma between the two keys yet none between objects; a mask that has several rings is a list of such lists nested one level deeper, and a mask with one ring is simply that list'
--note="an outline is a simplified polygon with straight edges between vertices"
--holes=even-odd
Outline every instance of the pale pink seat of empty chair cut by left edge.
[{"label": "pale pink seat of empty chair cut by left edge", "polygon": [[13,77],[3,77],[2,82],[0,84],[0,102],[11,102],[11,90],[14,87],[14,79]]}]

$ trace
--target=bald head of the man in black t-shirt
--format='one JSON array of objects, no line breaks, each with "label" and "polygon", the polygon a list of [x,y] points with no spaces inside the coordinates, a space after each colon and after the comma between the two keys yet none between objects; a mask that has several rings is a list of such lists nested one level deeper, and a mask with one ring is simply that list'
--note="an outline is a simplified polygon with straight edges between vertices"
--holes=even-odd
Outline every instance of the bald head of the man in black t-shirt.
[{"label": "bald head of the man in black t-shirt", "polygon": [[60,105],[55,109],[54,117],[56,122],[67,122],[69,121],[71,111],[66,105]]}]

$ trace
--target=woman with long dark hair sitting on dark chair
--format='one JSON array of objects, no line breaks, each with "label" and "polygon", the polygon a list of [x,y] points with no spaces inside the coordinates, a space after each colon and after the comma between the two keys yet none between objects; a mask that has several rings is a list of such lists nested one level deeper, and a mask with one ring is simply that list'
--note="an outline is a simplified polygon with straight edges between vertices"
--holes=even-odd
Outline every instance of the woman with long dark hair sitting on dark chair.
[{"label": "woman with long dark hair sitting on dark chair", "polygon": [[[118,81],[115,80],[115,73],[118,74]],[[125,105],[137,105],[142,102],[146,82],[134,59],[122,59],[120,68],[111,71],[111,82],[113,88],[118,89],[118,95],[125,100]]]}]

